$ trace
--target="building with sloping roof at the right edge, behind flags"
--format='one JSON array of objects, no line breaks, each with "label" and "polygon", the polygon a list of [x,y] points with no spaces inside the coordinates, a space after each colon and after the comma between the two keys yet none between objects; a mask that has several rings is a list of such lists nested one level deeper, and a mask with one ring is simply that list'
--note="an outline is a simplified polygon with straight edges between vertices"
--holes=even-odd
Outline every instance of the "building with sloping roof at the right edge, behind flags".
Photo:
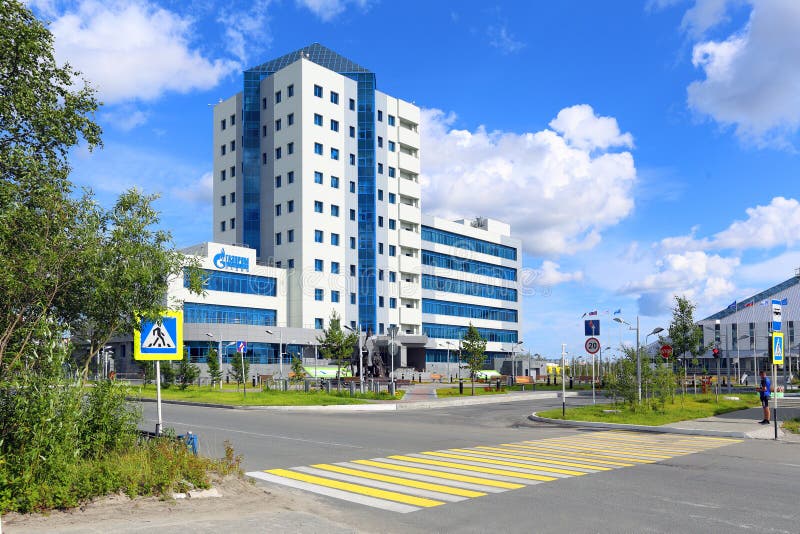
[{"label": "building with sloping roof at the right edge, behind flags", "polygon": [[[796,330],[800,326],[800,269],[791,278],[755,295],[737,300],[697,322],[703,329],[702,345],[714,345],[720,349],[722,368],[725,371],[728,359],[734,369],[738,364],[740,371],[750,376],[758,370],[769,369],[772,365],[768,359],[772,333],[772,300],[783,303],[781,331],[785,336],[786,360],[793,370],[797,369],[800,361],[800,337]],[[703,357],[712,358],[711,350]]]}]

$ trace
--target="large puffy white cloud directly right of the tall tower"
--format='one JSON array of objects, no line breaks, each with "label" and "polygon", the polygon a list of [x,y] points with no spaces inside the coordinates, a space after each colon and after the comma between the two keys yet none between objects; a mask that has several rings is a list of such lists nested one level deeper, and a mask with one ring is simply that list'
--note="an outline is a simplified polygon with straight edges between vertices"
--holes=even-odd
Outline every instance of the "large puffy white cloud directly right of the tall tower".
[{"label": "large puffy white cloud directly right of the tall tower", "polygon": [[594,247],[605,228],[633,209],[636,169],[630,152],[604,151],[629,146],[630,134],[620,134],[614,119],[594,115],[589,106],[576,108],[554,121],[563,135],[457,130],[454,114],[423,110],[423,209],[445,218],[507,221],[529,254]]}]

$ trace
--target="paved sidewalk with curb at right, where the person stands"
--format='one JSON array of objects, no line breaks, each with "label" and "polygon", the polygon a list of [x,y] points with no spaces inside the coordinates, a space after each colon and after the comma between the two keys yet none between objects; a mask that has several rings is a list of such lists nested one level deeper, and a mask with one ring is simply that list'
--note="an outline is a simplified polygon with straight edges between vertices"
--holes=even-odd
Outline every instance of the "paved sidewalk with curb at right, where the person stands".
[{"label": "paved sidewalk with curb at right, where the person stands", "polygon": [[[784,432],[780,428],[780,422],[800,417],[800,408],[784,408],[778,411],[778,440],[791,443],[800,443],[800,435]],[[748,408],[722,415],[704,417],[702,419],[691,419],[689,421],[678,421],[660,426],[646,425],[625,425],[616,423],[595,423],[588,421],[562,421],[560,419],[548,419],[539,417],[534,412],[529,419],[541,423],[551,423],[557,425],[567,425],[575,427],[606,428],[616,430],[638,430],[645,432],[663,432],[669,434],[690,434],[697,436],[732,437],[749,439],[775,439],[774,423],[760,425],[758,422],[762,418],[761,408]]]}]

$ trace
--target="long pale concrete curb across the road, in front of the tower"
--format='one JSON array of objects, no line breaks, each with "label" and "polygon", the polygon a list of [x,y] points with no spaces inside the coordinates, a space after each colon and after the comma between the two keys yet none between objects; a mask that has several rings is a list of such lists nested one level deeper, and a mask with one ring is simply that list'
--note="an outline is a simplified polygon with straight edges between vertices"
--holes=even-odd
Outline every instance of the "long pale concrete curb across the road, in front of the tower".
[{"label": "long pale concrete curb across the road, in front of the tower", "polygon": [[[577,397],[577,393],[567,392],[567,397]],[[274,412],[393,412],[405,410],[426,410],[435,408],[451,408],[457,406],[474,406],[477,404],[500,404],[503,402],[519,402],[534,399],[555,399],[560,398],[561,392],[536,393],[506,393],[498,395],[482,395],[466,399],[442,399],[436,401],[421,402],[391,402],[375,404],[330,404],[326,406],[233,406],[230,404],[212,404],[208,402],[189,402],[164,400],[163,404],[177,404],[182,406],[202,406],[204,408],[223,408],[226,410],[261,410]],[[156,402],[156,399],[133,398],[129,400],[140,402]]]}]

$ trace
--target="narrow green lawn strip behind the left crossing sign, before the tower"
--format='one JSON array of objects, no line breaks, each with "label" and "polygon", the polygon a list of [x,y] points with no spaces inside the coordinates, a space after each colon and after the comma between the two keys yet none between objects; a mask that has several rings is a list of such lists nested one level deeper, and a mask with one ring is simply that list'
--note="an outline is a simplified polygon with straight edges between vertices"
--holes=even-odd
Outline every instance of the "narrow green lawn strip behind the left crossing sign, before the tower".
[{"label": "narrow green lawn strip behind the left crossing sign, before the tower", "polygon": [[[402,392],[398,392],[397,398],[402,398]],[[156,387],[153,385],[143,387],[131,387],[131,397],[141,397],[147,399],[156,398]],[[224,389],[211,389],[208,386],[198,387],[189,386],[185,390],[180,390],[175,386],[169,389],[161,388],[161,398],[164,400],[178,400],[186,402],[206,402],[210,404],[228,404],[232,406],[328,406],[333,404],[365,404],[368,400],[382,399],[391,400],[392,397],[387,393],[376,396],[374,393],[350,397],[347,390],[337,393],[331,391],[327,394],[323,391],[261,391],[258,389],[248,389],[245,396],[242,391]]]}]

